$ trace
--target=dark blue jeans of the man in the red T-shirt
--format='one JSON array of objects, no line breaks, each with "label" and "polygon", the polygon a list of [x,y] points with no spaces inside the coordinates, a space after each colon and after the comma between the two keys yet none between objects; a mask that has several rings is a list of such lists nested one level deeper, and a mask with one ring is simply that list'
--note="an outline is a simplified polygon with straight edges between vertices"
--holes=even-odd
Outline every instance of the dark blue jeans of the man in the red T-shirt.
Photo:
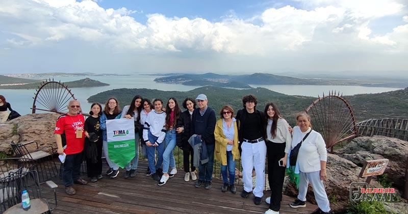
[{"label": "dark blue jeans of the man in the red T-shirt", "polygon": [[62,171],[64,186],[72,186],[74,180],[80,178],[82,164],[82,152],[77,154],[67,154]]}]

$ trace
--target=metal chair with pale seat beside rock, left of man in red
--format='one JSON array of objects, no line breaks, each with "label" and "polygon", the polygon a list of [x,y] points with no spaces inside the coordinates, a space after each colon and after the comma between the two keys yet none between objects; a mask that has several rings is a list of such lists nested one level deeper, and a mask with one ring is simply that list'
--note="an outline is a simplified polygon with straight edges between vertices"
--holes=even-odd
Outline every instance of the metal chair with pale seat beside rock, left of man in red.
[{"label": "metal chair with pale seat beside rock, left of man in red", "polygon": [[[35,151],[29,151],[27,146],[30,144],[35,144]],[[50,180],[58,175],[57,165],[54,162],[53,154],[44,152],[38,146],[36,141],[30,141],[28,143],[14,143],[11,142],[11,147],[13,148],[14,154],[16,157],[20,158],[21,162],[24,162],[25,159],[34,159],[36,161],[36,170],[39,174],[39,180],[41,183]],[[50,151],[53,151],[52,146],[47,146]]]}]

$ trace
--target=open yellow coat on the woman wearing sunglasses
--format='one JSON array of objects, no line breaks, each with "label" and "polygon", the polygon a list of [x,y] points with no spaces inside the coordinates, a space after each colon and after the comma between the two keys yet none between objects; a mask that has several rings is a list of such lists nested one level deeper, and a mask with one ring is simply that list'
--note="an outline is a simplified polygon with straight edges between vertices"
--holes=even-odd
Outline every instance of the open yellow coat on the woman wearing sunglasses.
[{"label": "open yellow coat on the woman wearing sunglasses", "polygon": [[[233,146],[233,159],[237,160],[240,158],[239,151],[238,151],[238,127],[237,121],[234,122],[234,146]],[[215,124],[214,130],[215,136],[215,150],[214,150],[214,157],[217,161],[221,162],[221,165],[226,165],[226,145],[228,144],[228,140],[225,139],[224,131],[222,130],[222,118],[217,121]]]}]

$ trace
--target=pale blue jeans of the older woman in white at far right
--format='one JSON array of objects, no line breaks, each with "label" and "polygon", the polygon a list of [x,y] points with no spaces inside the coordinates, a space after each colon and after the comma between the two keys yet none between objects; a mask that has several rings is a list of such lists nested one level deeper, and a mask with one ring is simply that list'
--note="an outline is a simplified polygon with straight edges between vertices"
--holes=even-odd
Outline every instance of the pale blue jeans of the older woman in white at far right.
[{"label": "pale blue jeans of the older woman in white at far right", "polygon": [[317,205],[323,212],[329,212],[330,204],[326,195],[326,191],[324,190],[323,181],[320,180],[320,171],[300,172],[299,195],[297,196],[297,199],[306,201],[309,182],[310,184],[312,184],[313,193],[315,194]]}]

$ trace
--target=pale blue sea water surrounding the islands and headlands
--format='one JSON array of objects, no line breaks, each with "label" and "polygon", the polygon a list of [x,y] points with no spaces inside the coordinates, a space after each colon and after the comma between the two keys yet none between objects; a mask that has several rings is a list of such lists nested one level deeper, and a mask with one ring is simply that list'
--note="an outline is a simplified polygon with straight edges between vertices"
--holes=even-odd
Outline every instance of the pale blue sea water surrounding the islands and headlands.
[{"label": "pale blue sea water surrounding the islands and headlands", "polygon": [[[146,74],[130,74],[130,75],[117,75],[117,76],[54,76],[49,77],[54,81],[69,82],[89,77],[97,81],[110,84],[103,87],[90,87],[90,88],[72,88],[71,92],[75,98],[81,102],[82,110],[89,112],[91,103],[87,102],[87,98],[90,96],[120,88],[146,88],[157,89],[162,91],[189,91],[199,86],[184,86],[180,84],[165,84],[156,83],[154,79],[161,77],[160,75],[146,75]],[[368,94],[368,93],[380,93],[387,91],[395,91],[400,88],[385,88],[385,87],[363,87],[363,86],[308,86],[308,85],[250,85],[251,87],[263,87],[287,95],[301,95],[301,96],[322,96],[322,94],[328,94],[330,91],[340,92],[343,95],[354,94]],[[21,115],[31,114],[36,90],[35,89],[1,89],[0,94],[6,97],[7,102],[10,102],[13,110],[17,111]],[[143,96],[143,95],[142,95]],[[169,95],[170,97],[171,95]],[[129,100],[130,102],[131,100]],[[128,103],[124,103],[128,104]],[[123,103],[121,106],[124,105]],[[36,113],[42,113],[36,111]]]}]

